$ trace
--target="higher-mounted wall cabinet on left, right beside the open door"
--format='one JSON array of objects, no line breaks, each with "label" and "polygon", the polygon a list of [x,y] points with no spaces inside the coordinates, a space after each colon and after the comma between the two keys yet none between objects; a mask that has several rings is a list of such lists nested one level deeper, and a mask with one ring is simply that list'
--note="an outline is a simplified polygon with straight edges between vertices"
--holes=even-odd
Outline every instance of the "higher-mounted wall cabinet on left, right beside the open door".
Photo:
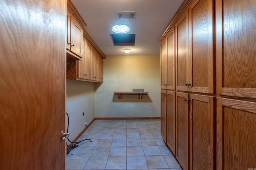
[{"label": "higher-mounted wall cabinet on left, right beside the open door", "polygon": [[83,53],[83,28],[67,8],[67,59],[80,60]]}]

